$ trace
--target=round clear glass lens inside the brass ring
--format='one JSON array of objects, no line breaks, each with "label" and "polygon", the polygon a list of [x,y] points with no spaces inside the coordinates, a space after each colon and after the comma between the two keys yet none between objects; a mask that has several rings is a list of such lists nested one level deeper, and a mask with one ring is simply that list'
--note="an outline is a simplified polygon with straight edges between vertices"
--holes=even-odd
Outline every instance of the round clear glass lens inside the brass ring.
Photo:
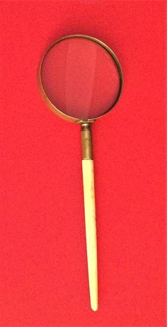
[{"label": "round clear glass lens inside the brass ring", "polygon": [[52,104],[80,120],[106,113],[120,92],[120,74],[111,54],[79,37],[50,48],[42,61],[41,81]]}]

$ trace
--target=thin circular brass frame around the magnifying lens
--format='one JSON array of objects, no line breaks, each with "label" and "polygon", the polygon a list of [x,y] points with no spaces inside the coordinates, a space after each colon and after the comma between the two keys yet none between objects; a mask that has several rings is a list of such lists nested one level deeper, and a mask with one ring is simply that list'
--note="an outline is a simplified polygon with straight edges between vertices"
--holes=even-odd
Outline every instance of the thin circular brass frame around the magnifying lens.
[{"label": "thin circular brass frame around the magnifying lens", "polygon": [[[100,115],[98,117],[92,117],[92,118],[89,118],[88,120],[80,120],[79,118],[69,116],[69,115],[63,113],[61,110],[59,110],[59,108],[55,107],[55,105],[52,104],[52,102],[50,101],[50,99],[47,97],[47,95],[45,93],[45,90],[44,90],[43,85],[42,85],[42,78],[41,78],[41,70],[42,70],[43,60],[44,60],[45,56],[47,55],[47,52],[49,52],[50,49],[52,47],[54,47],[54,45],[56,45],[57,43],[61,42],[62,40],[66,40],[66,39],[69,39],[69,38],[85,38],[85,39],[91,40],[93,42],[96,42],[101,47],[104,47],[105,50],[107,50],[109,52],[109,54],[111,55],[111,57],[113,57],[113,59],[115,61],[115,64],[117,66],[117,69],[118,69],[118,72],[119,72],[119,75],[120,75],[120,90],[119,90],[119,93],[118,93],[117,98],[115,100],[115,103],[112,105],[112,107],[110,109],[108,109],[105,113],[103,113],[103,115]],[[120,62],[117,59],[117,57],[116,57],[115,53],[113,52],[113,50],[111,50],[110,47],[108,47],[108,45],[105,45],[105,43],[101,42],[100,40],[98,40],[96,38],[93,38],[91,36],[88,36],[88,35],[82,35],[82,34],[67,35],[67,36],[64,36],[64,38],[60,38],[59,40],[57,40],[56,42],[54,42],[45,51],[45,54],[43,55],[42,60],[40,62],[40,69],[38,71],[38,85],[39,85],[39,88],[40,88],[40,93],[42,94],[42,98],[44,99],[45,103],[50,108],[50,110],[52,110],[57,116],[63,118],[64,120],[68,120],[69,122],[78,122],[80,124],[83,124],[85,122],[94,122],[96,119],[98,119],[100,117],[103,117],[104,115],[106,115],[107,113],[109,113],[110,110],[113,109],[113,107],[116,105],[117,101],[119,100],[120,95],[122,93],[122,86],[123,86],[122,68],[121,68]]]}]

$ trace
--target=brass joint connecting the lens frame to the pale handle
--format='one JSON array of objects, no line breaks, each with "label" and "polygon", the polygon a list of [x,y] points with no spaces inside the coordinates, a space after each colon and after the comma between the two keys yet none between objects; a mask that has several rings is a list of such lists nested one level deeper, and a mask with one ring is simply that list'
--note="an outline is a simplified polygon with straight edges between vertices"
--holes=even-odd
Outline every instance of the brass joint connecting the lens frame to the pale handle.
[{"label": "brass joint connecting the lens frame to the pale handle", "polygon": [[81,144],[82,144],[82,159],[83,160],[93,159],[90,122],[84,122],[81,125]]}]

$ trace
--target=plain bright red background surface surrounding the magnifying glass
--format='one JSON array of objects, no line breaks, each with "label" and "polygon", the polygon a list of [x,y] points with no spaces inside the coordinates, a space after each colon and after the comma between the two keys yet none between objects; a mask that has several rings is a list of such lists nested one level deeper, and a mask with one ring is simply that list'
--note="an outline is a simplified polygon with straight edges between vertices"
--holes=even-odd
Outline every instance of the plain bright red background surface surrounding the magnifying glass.
[{"label": "plain bright red background surface surrounding the magnifying glass", "polygon": [[[1,1],[1,326],[165,326],[164,16],[164,1]],[[46,108],[36,77],[74,33],[106,42],[125,81],[93,125],[97,312],[80,128]]]}]

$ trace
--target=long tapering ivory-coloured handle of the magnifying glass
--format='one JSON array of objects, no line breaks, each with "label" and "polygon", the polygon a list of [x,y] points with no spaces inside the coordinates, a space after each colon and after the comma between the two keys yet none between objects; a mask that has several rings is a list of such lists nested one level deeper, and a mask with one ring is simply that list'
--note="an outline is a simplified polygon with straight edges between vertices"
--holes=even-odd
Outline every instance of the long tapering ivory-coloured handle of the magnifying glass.
[{"label": "long tapering ivory-coloured handle of the magnifying glass", "polygon": [[98,267],[93,160],[82,160],[82,171],[84,183],[88,281],[91,297],[91,308],[93,311],[96,311],[98,309]]}]

